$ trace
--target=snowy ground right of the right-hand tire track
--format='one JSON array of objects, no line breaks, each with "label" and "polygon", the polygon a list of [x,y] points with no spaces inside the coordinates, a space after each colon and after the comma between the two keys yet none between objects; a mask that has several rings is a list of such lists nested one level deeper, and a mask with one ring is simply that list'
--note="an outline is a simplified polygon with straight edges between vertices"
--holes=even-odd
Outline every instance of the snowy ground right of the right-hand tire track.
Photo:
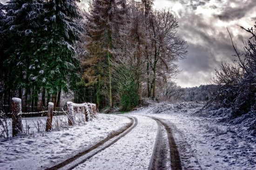
[{"label": "snowy ground right of the right-hand tire track", "polygon": [[194,114],[202,106],[160,103],[132,114],[164,119],[173,127],[184,170],[256,170],[256,137],[248,127]]}]

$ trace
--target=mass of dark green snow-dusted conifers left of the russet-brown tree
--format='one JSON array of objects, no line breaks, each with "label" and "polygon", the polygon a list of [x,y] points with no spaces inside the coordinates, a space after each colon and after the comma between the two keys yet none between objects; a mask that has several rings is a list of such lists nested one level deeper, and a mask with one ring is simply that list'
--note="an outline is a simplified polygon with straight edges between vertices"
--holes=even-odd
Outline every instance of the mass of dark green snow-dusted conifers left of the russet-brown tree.
[{"label": "mass of dark green snow-dusted conifers left of the russet-brown tree", "polygon": [[75,22],[80,18],[76,2],[10,0],[2,6],[7,12],[1,20],[6,38],[1,44],[7,70],[1,91],[5,103],[18,95],[36,106],[40,93],[47,93],[49,100],[61,89],[67,91],[68,78],[78,66],[73,48],[81,31]]}]

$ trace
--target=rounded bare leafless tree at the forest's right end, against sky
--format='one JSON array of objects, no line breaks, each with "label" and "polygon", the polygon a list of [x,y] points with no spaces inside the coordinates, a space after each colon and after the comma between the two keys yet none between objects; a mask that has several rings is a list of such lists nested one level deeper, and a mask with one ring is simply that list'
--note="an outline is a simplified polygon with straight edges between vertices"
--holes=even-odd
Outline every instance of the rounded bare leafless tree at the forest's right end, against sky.
[{"label": "rounded bare leafless tree at the forest's right end, against sky", "polygon": [[153,72],[149,92],[155,97],[157,78],[161,77],[161,81],[166,81],[179,72],[175,62],[185,58],[187,47],[186,42],[176,36],[178,22],[169,10],[152,13],[149,25],[152,48],[149,64]]}]

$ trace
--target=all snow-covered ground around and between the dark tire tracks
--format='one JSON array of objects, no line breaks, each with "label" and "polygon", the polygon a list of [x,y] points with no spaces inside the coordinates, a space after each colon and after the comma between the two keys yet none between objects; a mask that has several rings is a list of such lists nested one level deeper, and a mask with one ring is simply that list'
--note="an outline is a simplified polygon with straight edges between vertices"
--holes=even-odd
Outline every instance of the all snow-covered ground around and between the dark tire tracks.
[{"label": "all snow-covered ground around and between the dark tire tracks", "polygon": [[[242,124],[230,125],[195,112],[200,103],[157,103],[127,113],[138,125],[77,170],[146,170],[154,149],[156,117],[170,125],[184,170],[255,170],[256,137]],[[149,117],[147,117],[149,116]],[[0,169],[38,170],[51,167],[105,139],[130,122],[126,117],[99,114],[82,126],[34,132],[0,142]]]}]

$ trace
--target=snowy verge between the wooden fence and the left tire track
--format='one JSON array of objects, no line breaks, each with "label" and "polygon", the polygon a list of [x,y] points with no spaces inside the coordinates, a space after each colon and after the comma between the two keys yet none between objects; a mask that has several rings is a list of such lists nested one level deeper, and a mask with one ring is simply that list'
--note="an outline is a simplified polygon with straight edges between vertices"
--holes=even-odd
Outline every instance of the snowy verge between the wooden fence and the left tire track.
[{"label": "snowy verge between the wooden fence and the left tire track", "polygon": [[98,119],[84,126],[53,132],[34,132],[22,138],[2,141],[0,167],[3,170],[46,169],[90,148],[129,122],[125,117],[99,114]]}]

